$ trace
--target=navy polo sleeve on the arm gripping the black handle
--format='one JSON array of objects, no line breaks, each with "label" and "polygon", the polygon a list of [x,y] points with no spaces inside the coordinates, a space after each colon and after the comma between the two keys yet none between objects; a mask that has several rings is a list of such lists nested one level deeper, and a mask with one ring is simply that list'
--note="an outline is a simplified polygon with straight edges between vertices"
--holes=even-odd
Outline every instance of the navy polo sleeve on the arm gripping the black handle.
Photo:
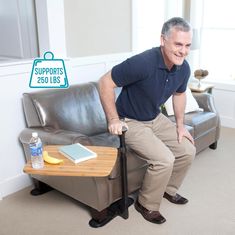
[{"label": "navy polo sleeve on the arm gripping the black handle", "polygon": [[147,62],[143,56],[139,54],[114,66],[111,75],[114,83],[118,87],[123,87],[144,79],[147,70]]}]

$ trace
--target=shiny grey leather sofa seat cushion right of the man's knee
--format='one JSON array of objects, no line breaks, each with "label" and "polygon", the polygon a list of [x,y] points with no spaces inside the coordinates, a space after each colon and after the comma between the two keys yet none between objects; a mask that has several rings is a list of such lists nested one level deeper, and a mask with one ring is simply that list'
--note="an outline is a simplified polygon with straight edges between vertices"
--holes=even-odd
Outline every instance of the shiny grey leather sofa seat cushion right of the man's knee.
[{"label": "shiny grey leather sofa seat cushion right of the man's knee", "polygon": [[184,123],[194,129],[194,139],[217,126],[217,116],[212,112],[192,112],[185,115]]}]

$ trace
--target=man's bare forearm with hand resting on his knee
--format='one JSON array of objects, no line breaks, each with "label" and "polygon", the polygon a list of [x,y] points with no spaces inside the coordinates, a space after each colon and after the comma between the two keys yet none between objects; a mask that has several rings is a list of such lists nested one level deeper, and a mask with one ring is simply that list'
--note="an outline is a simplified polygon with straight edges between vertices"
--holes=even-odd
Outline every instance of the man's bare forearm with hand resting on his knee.
[{"label": "man's bare forearm with hand resting on his knee", "polygon": [[186,93],[173,94],[173,108],[175,113],[178,141],[181,143],[183,136],[188,138],[193,144],[194,140],[188,130],[184,127],[184,111],[186,106]]}]

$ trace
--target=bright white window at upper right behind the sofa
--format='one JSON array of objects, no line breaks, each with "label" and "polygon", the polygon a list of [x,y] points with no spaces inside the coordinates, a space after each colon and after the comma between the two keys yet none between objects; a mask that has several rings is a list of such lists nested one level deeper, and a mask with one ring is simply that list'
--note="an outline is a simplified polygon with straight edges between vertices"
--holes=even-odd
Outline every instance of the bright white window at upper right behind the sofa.
[{"label": "bright white window at upper right behind the sofa", "polygon": [[204,1],[201,28],[200,67],[209,78],[235,82],[235,2]]}]

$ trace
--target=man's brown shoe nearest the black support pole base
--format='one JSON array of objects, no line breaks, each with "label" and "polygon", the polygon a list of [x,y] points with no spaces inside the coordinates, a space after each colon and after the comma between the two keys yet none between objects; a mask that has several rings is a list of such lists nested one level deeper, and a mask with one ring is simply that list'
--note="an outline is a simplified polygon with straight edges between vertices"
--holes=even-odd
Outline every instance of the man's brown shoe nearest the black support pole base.
[{"label": "man's brown shoe nearest the black support pole base", "polygon": [[166,221],[166,219],[160,214],[159,211],[151,211],[143,207],[138,199],[135,202],[135,209],[149,222],[155,224],[162,224]]}]

